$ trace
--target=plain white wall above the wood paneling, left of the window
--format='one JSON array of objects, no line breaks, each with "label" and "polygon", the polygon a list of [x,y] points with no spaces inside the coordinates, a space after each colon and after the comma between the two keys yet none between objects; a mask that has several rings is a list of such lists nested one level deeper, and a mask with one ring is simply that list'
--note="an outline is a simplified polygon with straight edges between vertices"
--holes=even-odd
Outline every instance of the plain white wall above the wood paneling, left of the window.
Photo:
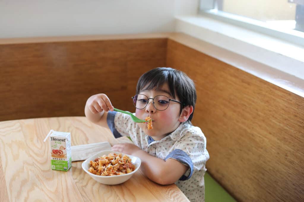
[{"label": "plain white wall above the wood paneling, left of the window", "polygon": [[0,38],[174,32],[198,0],[1,0]]}]

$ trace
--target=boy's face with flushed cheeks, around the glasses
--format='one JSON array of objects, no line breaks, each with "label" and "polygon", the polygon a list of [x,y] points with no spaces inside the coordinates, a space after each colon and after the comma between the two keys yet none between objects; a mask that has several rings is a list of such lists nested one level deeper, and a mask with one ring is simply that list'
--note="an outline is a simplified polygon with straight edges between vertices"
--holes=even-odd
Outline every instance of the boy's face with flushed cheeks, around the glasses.
[{"label": "boy's face with flushed cheeks, around the glasses", "polygon": [[[145,89],[145,88],[144,88]],[[158,95],[164,95],[173,99],[170,96],[170,90],[168,84],[164,84],[160,90],[142,90],[140,94],[147,96],[148,98],[154,98]],[[178,97],[174,100],[180,101]],[[169,133],[173,132],[180,124],[179,111],[181,105],[176,102],[170,101],[169,106],[164,111],[159,111],[153,106],[153,100],[149,99],[148,105],[144,109],[136,109],[135,115],[140,119],[145,119],[150,116],[153,120],[153,129],[148,130],[147,123],[138,123],[141,130],[149,136],[152,136],[154,140],[161,140],[163,137],[167,136]]]}]

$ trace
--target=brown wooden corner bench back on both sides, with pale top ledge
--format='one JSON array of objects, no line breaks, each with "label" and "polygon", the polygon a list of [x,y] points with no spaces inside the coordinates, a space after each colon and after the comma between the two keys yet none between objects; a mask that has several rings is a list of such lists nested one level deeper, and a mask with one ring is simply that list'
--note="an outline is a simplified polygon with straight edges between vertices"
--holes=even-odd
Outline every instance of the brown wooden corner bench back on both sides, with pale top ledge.
[{"label": "brown wooden corner bench back on both sides, with pale top ledge", "polygon": [[181,69],[195,81],[193,124],[207,138],[206,201],[303,201],[304,98],[206,49],[219,50],[179,33],[1,39],[0,120],[84,116],[85,101],[101,92],[133,111],[143,72]]}]

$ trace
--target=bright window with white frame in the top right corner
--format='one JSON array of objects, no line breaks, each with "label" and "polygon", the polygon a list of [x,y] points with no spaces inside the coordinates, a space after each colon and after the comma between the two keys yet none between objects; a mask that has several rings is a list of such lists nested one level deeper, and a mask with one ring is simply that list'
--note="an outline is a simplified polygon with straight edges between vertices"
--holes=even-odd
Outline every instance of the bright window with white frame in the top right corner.
[{"label": "bright window with white frame in the top right corner", "polygon": [[201,0],[200,13],[304,45],[304,0]]}]

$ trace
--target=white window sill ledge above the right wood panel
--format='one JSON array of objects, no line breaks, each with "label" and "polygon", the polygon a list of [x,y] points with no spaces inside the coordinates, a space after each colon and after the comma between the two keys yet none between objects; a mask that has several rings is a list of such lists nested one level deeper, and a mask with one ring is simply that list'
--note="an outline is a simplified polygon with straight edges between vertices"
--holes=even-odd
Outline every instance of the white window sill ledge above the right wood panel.
[{"label": "white window sill ledge above the right wood panel", "polygon": [[304,47],[201,15],[175,20],[176,32],[209,44],[192,48],[304,97]]}]

